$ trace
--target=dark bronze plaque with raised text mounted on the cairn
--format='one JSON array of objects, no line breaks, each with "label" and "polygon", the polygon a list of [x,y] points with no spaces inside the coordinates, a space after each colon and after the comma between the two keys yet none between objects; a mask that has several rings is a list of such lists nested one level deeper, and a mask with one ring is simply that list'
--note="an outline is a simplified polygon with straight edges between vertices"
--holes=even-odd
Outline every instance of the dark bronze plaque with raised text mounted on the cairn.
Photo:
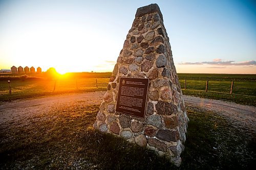
[{"label": "dark bronze plaque with raised text mounted on the cairn", "polygon": [[116,111],[144,118],[148,79],[121,77]]}]

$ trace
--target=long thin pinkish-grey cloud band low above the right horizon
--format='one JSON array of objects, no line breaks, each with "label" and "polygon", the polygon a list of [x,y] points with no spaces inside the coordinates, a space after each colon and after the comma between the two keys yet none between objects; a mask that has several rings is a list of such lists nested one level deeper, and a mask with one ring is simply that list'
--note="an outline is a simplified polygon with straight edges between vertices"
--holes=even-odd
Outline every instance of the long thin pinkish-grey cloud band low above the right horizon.
[{"label": "long thin pinkish-grey cloud band low above the right horizon", "polygon": [[182,62],[179,63],[181,65],[202,65],[202,64],[208,64],[208,65],[256,65],[256,61],[243,61],[243,62],[234,62],[234,61],[221,61],[221,59],[214,59],[214,61],[203,61],[203,62]]}]

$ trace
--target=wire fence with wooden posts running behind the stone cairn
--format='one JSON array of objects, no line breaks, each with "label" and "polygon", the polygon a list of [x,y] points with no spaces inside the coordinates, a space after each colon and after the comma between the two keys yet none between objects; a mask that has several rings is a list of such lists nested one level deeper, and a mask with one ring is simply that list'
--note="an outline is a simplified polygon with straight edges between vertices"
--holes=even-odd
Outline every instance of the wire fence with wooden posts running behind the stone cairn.
[{"label": "wire fence with wooden posts running behind the stone cairn", "polygon": [[[12,92],[52,92],[98,89],[108,86],[109,78],[73,78],[57,80],[6,80],[0,84],[0,94]],[[244,94],[256,96],[256,81],[221,81],[221,80],[179,80],[182,90],[200,90],[230,94]],[[208,83],[207,83],[208,82]],[[10,85],[10,86],[9,86]],[[100,89],[101,88],[101,89]]]}]

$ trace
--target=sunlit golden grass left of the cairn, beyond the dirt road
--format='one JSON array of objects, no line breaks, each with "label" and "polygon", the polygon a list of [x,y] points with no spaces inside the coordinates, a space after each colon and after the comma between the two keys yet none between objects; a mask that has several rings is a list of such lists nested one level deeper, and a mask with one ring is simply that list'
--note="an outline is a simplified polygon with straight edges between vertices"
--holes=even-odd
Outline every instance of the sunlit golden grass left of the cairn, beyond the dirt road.
[{"label": "sunlit golden grass left of the cairn, beyond the dirt road", "polygon": [[14,79],[10,83],[12,94],[9,94],[8,82],[0,80],[0,101],[12,101],[62,93],[104,91],[108,82],[109,78],[98,78],[97,84],[96,78],[80,78],[73,81],[67,78],[59,78],[58,80],[27,78],[25,81]]}]

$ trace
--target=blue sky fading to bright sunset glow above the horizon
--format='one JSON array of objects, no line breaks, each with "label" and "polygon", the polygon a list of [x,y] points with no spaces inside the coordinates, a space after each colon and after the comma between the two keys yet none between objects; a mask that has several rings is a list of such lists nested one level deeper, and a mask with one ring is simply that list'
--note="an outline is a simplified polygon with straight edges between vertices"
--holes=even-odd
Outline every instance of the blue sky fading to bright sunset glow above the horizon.
[{"label": "blue sky fading to bright sunset glow above the horizon", "polygon": [[157,3],[177,72],[256,74],[255,1],[1,1],[0,69],[112,71],[137,8]]}]

